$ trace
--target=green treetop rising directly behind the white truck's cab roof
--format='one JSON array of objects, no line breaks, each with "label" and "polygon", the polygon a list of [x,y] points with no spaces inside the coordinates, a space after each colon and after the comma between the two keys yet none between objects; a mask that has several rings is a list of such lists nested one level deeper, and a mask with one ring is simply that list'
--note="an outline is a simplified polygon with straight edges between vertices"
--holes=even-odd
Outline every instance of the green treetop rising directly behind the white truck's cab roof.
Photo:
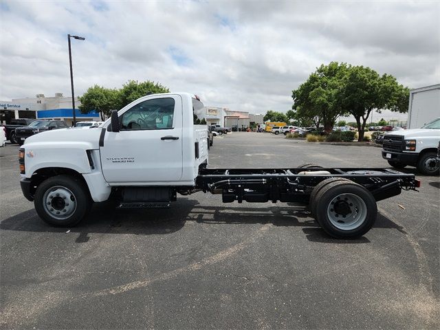
[{"label": "green treetop rising directly behind the white truck's cab roof", "polygon": [[150,80],[144,81],[143,83],[139,83],[137,80],[129,80],[129,82],[124,84],[118,92],[117,109],[125,107],[126,104],[129,104],[142,96],[169,92],[170,90],[167,87]]}]

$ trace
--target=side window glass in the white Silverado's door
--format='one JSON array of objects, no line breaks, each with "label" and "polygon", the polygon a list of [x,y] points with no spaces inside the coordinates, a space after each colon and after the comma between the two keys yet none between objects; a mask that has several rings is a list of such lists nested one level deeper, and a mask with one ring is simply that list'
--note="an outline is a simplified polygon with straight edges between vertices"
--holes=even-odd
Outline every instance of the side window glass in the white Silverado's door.
[{"label": "side window glass in the white Silverado's door", "polygon": [[136,129],[172,129],[174,118],[173,98],[156,98],[136,104],[122,115],[124,131]]}]

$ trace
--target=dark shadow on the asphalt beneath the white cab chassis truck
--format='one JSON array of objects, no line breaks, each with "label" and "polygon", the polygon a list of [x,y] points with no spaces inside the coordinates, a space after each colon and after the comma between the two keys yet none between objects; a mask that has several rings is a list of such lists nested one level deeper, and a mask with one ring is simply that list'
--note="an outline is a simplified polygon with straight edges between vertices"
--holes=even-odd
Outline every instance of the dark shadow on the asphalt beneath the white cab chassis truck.
[{"label": "dark shadow on the asphalt beneath the white cab chassis truck", "polygon": [[[89,233],[108,234],[169,234],[184,227],[186,221],[212,224],[272,223],[274,226],[305,227],[307,239],[321,243],[369,243],[365,237],[354,240],[331,239],[310,217],[304,206],[200,206],[196,200],[179,199],[168,209],[115,209],[111,202],[97,203],[90,214],[73,228],[56,228],[39,219],[35,210],[21,212],[1,221],[1,230],[26,232],[77,232],[76,243],[89,241]],[[404,228],[382,214],[377,215],[374,228],[395,228],[407,234]]]}]

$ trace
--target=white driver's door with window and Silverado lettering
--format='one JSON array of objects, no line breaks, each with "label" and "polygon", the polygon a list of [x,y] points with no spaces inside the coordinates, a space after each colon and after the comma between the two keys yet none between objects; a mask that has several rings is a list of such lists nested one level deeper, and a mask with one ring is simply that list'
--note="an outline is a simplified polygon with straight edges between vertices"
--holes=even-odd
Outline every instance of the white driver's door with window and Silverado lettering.
[{"label": "white driver's door with window and Silverado lettering", "polygon": [[120,131],[106,131],[104,146],[100,147],[107,182],[160,184],[181,179],[180,96],[142,98],[119,114],[119,122]]}]

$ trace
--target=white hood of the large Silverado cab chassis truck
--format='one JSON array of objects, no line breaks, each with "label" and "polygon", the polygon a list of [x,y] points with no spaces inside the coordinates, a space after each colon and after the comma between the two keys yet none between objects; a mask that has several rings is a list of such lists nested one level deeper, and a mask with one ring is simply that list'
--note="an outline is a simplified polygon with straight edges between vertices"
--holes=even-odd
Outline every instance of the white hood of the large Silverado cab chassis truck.
[{"label": "white hood of the large Silverado cab chassis truck", "polygon": [[41,132],[28,137],[25,146],[35,143],[84,143],[90,144],[93,148],[99,148],[99,137],[101,129],[54,129],[52,131]]}]

